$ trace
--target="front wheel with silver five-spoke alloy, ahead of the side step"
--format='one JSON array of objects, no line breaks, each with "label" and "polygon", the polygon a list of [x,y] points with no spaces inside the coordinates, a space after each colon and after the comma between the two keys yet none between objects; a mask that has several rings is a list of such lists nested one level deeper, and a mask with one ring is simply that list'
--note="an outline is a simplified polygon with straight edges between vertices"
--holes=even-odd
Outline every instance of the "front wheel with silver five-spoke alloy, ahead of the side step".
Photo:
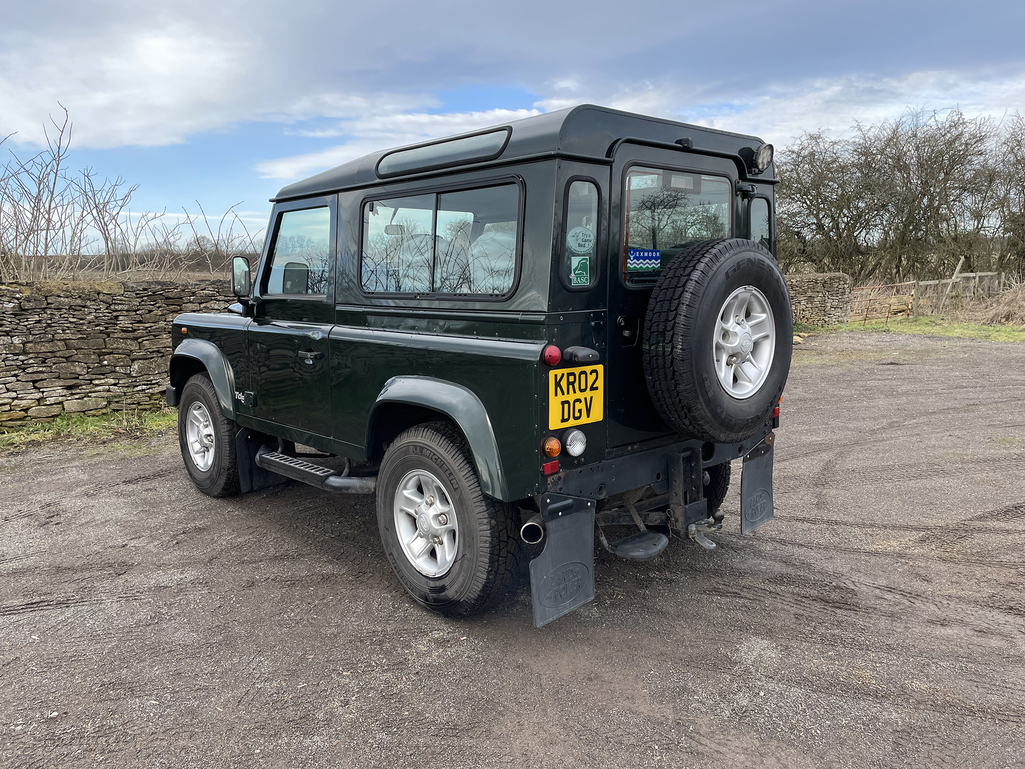
[{"label": "front wheel with silver five-spoke alloy, ahead of the side step", "polygon": [[210,496],[239,493],[235,434],[239,426],[220,413],[217,392],[205,373],[195,374],[181,389],[178,444],[196,488]]}]

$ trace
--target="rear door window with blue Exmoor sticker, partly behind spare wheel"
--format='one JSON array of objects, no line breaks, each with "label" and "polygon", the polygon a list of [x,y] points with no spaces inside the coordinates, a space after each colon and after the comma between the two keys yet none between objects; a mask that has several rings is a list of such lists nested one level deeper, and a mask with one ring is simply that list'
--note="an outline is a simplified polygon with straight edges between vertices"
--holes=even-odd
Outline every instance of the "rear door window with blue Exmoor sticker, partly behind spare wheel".
[{"label": "rear door window with blue Exmoor sticker, partly behind spare wheel", "polygon": [[733,186],[722,176],[633,167],[623,200],[623,278],[630,285],[654,283],[690,243],[730,235]]}]

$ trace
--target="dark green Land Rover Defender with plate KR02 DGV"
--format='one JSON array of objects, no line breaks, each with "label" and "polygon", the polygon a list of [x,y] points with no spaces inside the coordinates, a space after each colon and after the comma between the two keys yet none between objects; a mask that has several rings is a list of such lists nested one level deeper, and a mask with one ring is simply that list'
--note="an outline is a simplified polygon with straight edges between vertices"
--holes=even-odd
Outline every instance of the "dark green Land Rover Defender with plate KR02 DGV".
[{"label": "dark green Land Rover Defender with plate KR02 DGV", "polygon": [[584,105],[289,185],[238,302],[173,322],[186,469],[376,494],[399,580],[450,616],[528,553],[536,624],[589,601],[596,534],[713,548],[733,459],[750,531],[792,345],[772,155]]}]

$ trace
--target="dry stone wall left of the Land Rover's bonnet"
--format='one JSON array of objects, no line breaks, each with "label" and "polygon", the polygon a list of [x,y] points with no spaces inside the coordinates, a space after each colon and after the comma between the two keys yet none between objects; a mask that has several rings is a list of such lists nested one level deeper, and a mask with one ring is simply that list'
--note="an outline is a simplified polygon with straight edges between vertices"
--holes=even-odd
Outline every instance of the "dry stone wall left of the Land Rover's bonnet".
[{"label": "dry stone wall left of the Land Rover's bonnet", "polygon": [[223,280],[0,284],[0,428],[162,405],[170,321],[232,301]]}]

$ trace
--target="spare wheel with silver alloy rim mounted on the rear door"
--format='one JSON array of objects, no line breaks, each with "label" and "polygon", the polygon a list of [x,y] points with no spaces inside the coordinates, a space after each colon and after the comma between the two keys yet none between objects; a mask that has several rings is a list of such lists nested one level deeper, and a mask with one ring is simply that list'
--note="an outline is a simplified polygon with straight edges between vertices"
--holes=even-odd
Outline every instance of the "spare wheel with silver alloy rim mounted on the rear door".
[{"label": "spare wheel with silver alloy rim mounted on the rear door", "polygon": [[678,432],[715,443],[750,438],[783,395],[793,349],[783,273],[750,240],[709,240],[663,268],[644,327],[644,373]]}]

